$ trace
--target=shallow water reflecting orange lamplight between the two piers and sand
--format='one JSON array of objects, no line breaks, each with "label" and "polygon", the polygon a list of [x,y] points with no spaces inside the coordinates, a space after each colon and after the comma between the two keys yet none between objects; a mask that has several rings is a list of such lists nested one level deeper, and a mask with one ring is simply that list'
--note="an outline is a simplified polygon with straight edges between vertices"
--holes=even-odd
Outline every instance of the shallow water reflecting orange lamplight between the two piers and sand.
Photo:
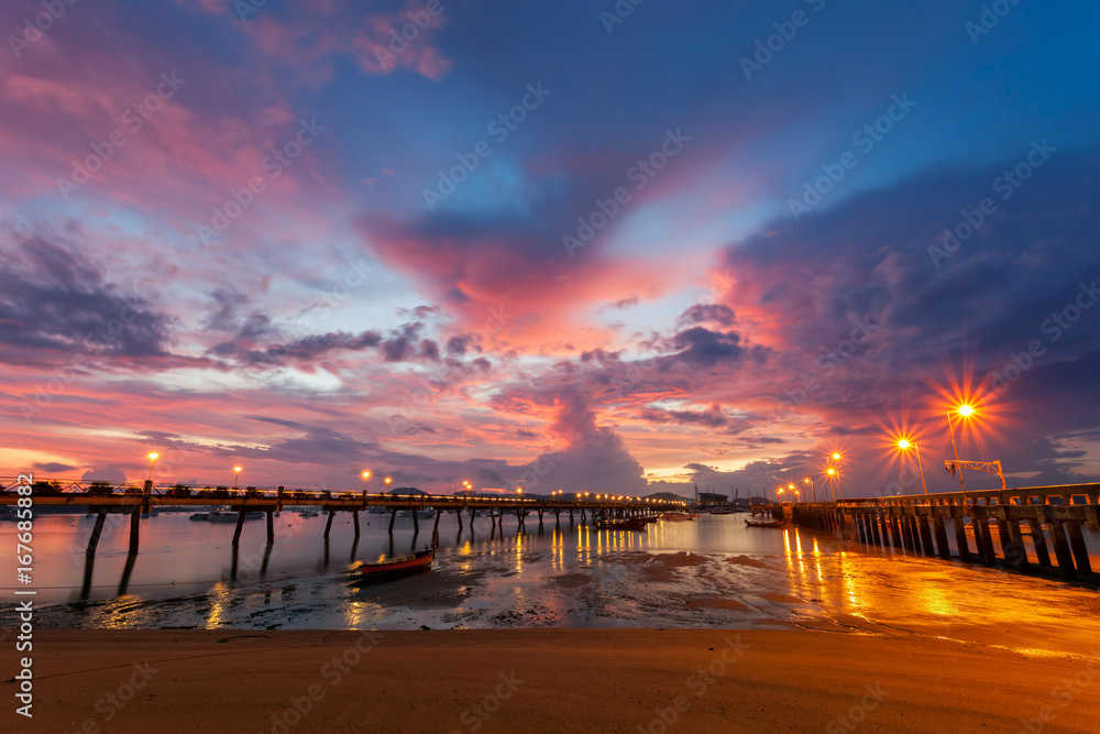
[{"label": "shallow water reflecting orange lamplight between the two piers and sand", "polygon": [[[354,560],[421,548],[410,517],[361,514],[275,518],[234,526],[191,522],[189,513],[142,519],[141,552],[128,562],[129,519],[112,518],[97,558],[84,556],[94,519],[35,519],[34,583],[40,624],[63,627],[475,628],[497,626],[763,627],[838,632],[887,627],[980,639],[993,627],[1026,624],[1043,649],[1076,649],[1075,625],[1097,618],[1094,589],[878,551],[805,529],[748,528],[743,515],[658,523],[648,532],[570,528],[529,517],[491,533],[479,517],[461,534],[440,523],[433,569],[373,585],[350,583]],[[14,524],[0,524],[4,567],[14,566]],[[1096,537],[1090,537],[1097,550]],[[1100,567],[1100,563],[1098,563]],[[8,576],[8,573],[6,573]],[[11,576],[14,576],[12,572]],[[7,601],[13,599],[6,588]],[[6,616],[11,624],[11,605]],[[1011,611],[1007,611],[1011,610]],[[1000,635],[998,631],[998,636]]]}]

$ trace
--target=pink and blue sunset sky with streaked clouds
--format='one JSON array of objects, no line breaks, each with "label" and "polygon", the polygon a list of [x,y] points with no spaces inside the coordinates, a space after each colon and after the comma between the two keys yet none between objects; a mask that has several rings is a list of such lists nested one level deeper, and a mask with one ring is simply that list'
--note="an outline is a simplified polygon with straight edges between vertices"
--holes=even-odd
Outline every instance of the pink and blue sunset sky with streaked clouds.
[{"label": "pink and blue sunset sky with streaked clouds", "polygon": [[0,473],[943,492],[965,402],[963,459],[1097,481],[1098,24],[4,3]]}]

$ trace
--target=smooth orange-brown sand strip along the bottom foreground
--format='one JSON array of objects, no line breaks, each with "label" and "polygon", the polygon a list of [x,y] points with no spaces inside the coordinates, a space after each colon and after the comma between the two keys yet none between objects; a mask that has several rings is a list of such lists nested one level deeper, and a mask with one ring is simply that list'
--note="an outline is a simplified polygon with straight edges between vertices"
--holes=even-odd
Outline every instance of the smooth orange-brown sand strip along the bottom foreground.
[{"label": "smooth orange-brown sand strip along the bottom foreground", "polygon": [[33,658],[2,731],[1100,731],[1100,650],[904,633],[37,631]]}]

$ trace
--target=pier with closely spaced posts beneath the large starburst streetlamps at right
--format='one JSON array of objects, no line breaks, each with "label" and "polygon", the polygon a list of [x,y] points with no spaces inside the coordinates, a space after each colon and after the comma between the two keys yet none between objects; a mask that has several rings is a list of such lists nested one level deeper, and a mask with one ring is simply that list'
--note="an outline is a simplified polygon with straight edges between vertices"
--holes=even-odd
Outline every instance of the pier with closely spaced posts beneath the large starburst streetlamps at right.
[{"label": "pier with closely spaced posts beneath the large starburst streetlamps at right", "polygon": [[1082,526],[1100,529],[1100,484],[856,499],[789,510],[798,525],[846,540],[1015,571],[1057,572],[1076,581],[1093,574]]}]

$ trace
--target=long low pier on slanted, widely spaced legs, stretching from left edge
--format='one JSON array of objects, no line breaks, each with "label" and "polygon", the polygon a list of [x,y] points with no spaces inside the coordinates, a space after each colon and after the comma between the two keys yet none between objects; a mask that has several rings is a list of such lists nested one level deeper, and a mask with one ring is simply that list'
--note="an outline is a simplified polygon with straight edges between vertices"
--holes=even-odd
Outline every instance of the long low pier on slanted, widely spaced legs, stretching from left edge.
[{"label": "long low pier on slanted, widely spaced legs, stretching from left edge", "polygon": [[[18,494],[18,481],[8,481],[0,491],[0,506],[16,504],[21,495]],[[477,511],[488,513],[494,529],[499,526],[504,532],[505,516],[515,515],[517,529],[526,528],[526,518],[531,513],[538,515],[539,525],[542,525],[547,513],[552,512],[554,523],[561,522],[563,512],[568,512],[570,525],[574,522],[574,512],[580,514],[581,523],[586,518],[591,519],[595,515],[605,517],[634,517],[640,515],[652,515],[670,510],[678,510],[680,505],[660,500],[635,500],[634,497],[595,497],[564,500],[558,497],[522,497],[522,496],[485,496],[485,495],[439,495],[439,494],[394,494],[362,492],[329,492],[318,490],[286,490],[283,486],[276,489],[261,489],[249,486],[241,490],[219,487],[197,487],[186,484],[172,484],[156,486],[151,481],[144,482],[140,486],[120,485],[114,486],[108,482],[35,482],[32,485],[31,497],[35,506],[79,506],[87,507],[89,513],[96,515],[96,524],[88,539],[86,555],[91,558],[96,555],[99,546],[99,538],[103,532],[103,525],[108,514],[122,514],[130,516],[130,549],[129,554],[138,554],[140,546],[140,518],[148,514],[153,507],[167,506],[191,506],[208,507],[223,506],[235,510],[238,513],[237,528],[233,532],[233,547],[240,545],[241,532],[244,528],[244,519],[248,513],[263,512],[267,518],[267,544],[275,543],[275,513],[282,512],[285,507],[318,507],[329,514],[324,524],[324,538],[328,539],[332,529],[332,519],[339,512],[350,512],[355,529],[355,538],[360,537],[359,513],[369,507],[384,507],[389,512],[389,533],[394,532],[394,522],[400,511],[413,512],[413,532],[420,533],[420,518],[418,511],[435,511],[435,523],[432,533],[439,528],[439,518],[444,512],[453,512],[458,515],[459,529],[462,529],[462,514],[469,513],[471,526]],[[586,517],[587,514],[587,517]]]}]

